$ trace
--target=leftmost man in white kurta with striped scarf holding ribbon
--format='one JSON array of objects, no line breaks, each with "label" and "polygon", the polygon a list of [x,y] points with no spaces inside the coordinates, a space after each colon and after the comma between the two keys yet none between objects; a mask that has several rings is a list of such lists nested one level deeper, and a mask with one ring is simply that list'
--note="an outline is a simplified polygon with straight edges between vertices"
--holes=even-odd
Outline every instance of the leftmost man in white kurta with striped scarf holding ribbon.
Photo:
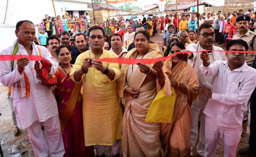
[{"label": "leftmost man in white kurta with striped scarf holding ribbon", "polygon": [[[31,21],[23,20],[16,24],[17,40],[12,46],[0,52],[0,55],[37,55],[50,61],[49,75],[54,75],[57,65],[51,53],[36,45],[36,30]],[[12,85],[11,97],[18,127],[28,130],[35,156],[62,157],[65,153],[60,130],[57,102],[52,88],[43,85],[42,76],[35,70],[36,61],[20,58],[17,61],[0,61],[0,82],[8,87]],[[47,143],[41,130],[44,125]]]}]

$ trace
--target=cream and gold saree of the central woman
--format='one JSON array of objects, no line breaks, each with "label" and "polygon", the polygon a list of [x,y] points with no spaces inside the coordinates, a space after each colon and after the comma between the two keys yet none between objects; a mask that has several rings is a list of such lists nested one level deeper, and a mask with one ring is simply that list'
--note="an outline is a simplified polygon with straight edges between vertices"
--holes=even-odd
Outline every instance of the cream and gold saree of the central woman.
[{"label": "cream and gold saree of the central woman", "polygon": [[[127,55],[128,58],[134,58],[136,54],[137,50],[133,49]],[[162,52],[155,49],[145,54],[143,58],[153,59],[161,56],[163,56]],[[148,66],[151,67],[152,64]],[[127,69],[124,70],[125,68]],[[161,124],[145,122],[148,108],[156,96],[156,81],[148,79],[145,74],[140,72],[137,65],[122,65],[121,73],[123,77],[118,81],[120,83],[118,91],[121,94],[120,98],[123,96],[125,100],[123,101],[125,111],[120,155],[124,157],[160,157]],[[138,80],[138,78],[140,79]],[[120,92],[123,91],[124,84],[139,90],[138,98],[132,98],[128,94],[122,95]]]}]

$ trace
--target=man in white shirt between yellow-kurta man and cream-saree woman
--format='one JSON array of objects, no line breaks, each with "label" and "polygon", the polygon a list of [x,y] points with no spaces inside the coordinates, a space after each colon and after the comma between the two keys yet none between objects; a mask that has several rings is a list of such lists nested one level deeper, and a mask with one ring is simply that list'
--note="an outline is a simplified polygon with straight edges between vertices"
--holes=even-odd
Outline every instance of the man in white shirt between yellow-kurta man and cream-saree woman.
[{"label": "man in white shirt between yellow-kurta man and cream-saree woman", "polygon": [[110,51],[115,53],[119,57],[123,52],[127,51],[124,46],[122,46],[122,36],[120,34],[113,34],[110,37],[111,48]]}]

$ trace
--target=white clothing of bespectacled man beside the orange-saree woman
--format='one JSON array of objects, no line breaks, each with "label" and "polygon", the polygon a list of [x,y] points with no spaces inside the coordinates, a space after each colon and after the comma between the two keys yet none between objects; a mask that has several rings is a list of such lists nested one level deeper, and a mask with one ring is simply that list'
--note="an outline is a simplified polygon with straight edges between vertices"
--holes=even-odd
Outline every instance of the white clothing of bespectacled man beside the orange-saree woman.
[{"label": "white clothing of bespectacled man beside the orange-saree woman", "polygon": [[[187,46],[188,51],[202,51],[203,48],[200,46],[200,42],[198,43],[191,43]],[[212,50],[223,50],[220,47],[212,45]],[[203,63],[202,59],[200,59],[201,53],[193,53],[194,57],[191,59],[188,59],[188,63],[194,68],[196,75],[199,80],[199,87],[204,87],[203,83],[205,84],[208,82],[212,85],[214,81],[213,76],[206,77],[202,75],[200,65]],[[225,53],[218,52],[218,51],[212,51],[210,53],[210,64],[212,64],[216,60],[226,60]],[[203,95],[198,95],[196,99],[193,101],[191,105],[191,152],[194,149],[194,146],[196,145],[197,135],[198,135],[198,118],[200,115],[200,134],[199,134],[199,143],[197,145],[197,152],[199,155],[204,156],[204,150],[205,150],[205,136],[204,136],[204,128],[205,128],[205,114],[203,113],[204,107],[208,101],[208,98]],[[191,154],[192,155],[192,154]]]}]

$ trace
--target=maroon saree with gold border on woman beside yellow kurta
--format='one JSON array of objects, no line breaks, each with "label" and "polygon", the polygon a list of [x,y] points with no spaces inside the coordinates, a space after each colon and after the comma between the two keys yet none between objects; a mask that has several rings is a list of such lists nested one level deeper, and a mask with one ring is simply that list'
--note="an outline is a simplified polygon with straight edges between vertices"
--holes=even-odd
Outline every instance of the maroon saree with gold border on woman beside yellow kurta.
[{"label": "maroon saree with gold border on woman beside yellow kurta", "polygon": [[[65,147],[65,157],[93,157],[93,146],[85,146],[82,105],[80,95],[81,83],[75,83],[69,75],[58,69],[58,84],[55,94],[59,109],[60,126]],[[78,91],[78,92],[77,92]]]}]

